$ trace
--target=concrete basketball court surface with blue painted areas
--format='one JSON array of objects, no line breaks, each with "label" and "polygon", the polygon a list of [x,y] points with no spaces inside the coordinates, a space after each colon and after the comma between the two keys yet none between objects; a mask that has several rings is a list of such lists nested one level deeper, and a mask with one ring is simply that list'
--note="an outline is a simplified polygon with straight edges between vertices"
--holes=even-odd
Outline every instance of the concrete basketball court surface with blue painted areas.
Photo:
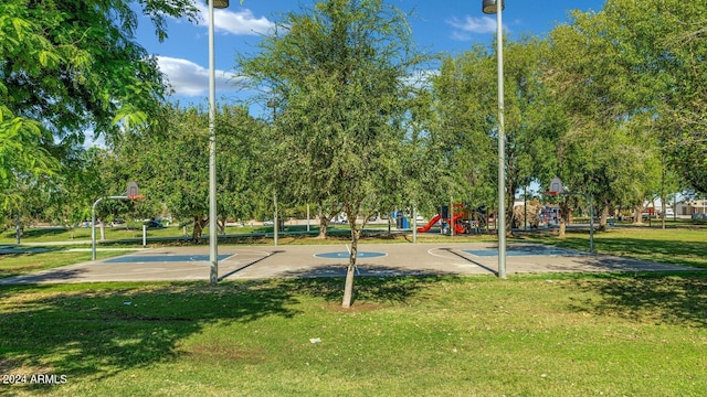
[{"label": "concrete basketball court surface with blue painted areas", "polygon": [[[219,279],[341,277],[346,245],[220,246]],[[357,276],[496,275],[496,246],[481,243],[361,244]],[[513,273],[671,271],[694,268],[541,245],[510,244],[506,271]],[[209,247],[166,247],[0,279],[0,285],[93,281],[208,280]]]}]

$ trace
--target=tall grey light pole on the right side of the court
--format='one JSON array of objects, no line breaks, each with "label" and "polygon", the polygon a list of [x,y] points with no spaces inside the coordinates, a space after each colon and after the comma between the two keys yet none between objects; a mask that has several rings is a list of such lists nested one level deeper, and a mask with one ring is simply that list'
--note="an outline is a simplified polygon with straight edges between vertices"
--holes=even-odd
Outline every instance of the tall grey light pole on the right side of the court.
[{"label": "tall grey light pole on the right side of the court", "polygon": [[[500,7],[498,3],[500,2]],[[496,14],[496,54],[498,54],[498,277],[506,278],[506,136],[504,132],[504,37],[502,11],[504,0],[483,0],[484,13]]]}]

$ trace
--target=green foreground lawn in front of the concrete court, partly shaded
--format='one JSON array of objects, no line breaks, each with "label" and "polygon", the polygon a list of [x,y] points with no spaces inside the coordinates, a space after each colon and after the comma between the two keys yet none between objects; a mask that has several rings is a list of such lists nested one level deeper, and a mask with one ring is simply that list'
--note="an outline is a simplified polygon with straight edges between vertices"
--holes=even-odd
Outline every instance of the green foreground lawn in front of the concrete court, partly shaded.
[{"label": "green foreground lawn in front of the concrete court, partly shaded", "polygon": [[[0,287],[3,396],[703,396],[697,273]],[[313,343],[314,341],[315,343]]]}]

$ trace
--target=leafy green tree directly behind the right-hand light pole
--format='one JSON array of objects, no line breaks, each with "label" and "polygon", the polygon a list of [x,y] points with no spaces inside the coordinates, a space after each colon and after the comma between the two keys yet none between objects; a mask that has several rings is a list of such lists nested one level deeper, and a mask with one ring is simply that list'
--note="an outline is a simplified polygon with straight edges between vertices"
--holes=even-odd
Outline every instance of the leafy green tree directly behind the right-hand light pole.
[{"label": "leafy green tree directly behind the right-hand light pole", "polygon": [[[555,141],[563,129],[541,74],[547,43],[525,39],[506,43],[504,72],[506,116],[506,225],[510,232],[516,192],[539,179],[555,163]],[[467,195],[490,204],[497,183],[498,124],[495,56],[476,46],[458,58],[447,58],[435,79],[440,126],[447,137],[450,165],[462,178]],[[494,142],[495,141],[495,142]]]}]

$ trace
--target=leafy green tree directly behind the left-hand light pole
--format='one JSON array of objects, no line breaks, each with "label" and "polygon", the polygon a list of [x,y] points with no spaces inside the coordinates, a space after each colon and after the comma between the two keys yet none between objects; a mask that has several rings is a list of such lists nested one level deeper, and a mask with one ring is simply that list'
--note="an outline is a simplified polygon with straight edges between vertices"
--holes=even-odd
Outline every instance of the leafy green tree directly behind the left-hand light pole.
[{"label": "leafy green tree directly behind the left-hand light pole", "polygon": [[[162,205],[182,224],[193,224],[192,240],[200,242],[210,222],[209,213],[209,122],[198,107],[167,105],[166,126],[159,133],[128,128],[110,142],[116,180],[123,185],[135,180],[145,195],[143,213],[161,213]],[[255,178],[262,124],[243,108],[222,106],[217,115],[217,194],[221,229],[229,217],[245,218],[254,212]],[[151,212],[149,214],[148,212]],[[217,219],[214,219],[217,222]]]}]

